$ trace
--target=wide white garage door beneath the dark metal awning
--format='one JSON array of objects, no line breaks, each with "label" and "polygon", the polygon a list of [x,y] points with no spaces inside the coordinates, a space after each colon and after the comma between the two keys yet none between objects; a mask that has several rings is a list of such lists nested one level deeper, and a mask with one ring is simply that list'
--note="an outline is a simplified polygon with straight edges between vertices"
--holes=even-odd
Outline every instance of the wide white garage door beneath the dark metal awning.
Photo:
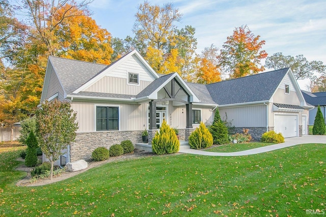
[{"label": "wide white garage door beneath the dark metal awning", "polygon": [[274,131],[284,138],[297,136],[297,115],[274,115]]}]

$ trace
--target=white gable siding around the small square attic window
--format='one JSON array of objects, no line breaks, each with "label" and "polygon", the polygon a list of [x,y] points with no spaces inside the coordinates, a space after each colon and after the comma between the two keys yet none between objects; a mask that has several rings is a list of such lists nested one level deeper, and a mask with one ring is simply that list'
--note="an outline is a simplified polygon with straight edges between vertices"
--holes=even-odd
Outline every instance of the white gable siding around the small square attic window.
[{"label": "white gable siding around the small square attic window", "polygon": [[[155,79],[154,75],[135,55],[132,55],[114,70],[103,73],[105,74],[104,77],[84,91],[137,95]],[[129,84],[128,73],[138,74],[139,84]]]}]

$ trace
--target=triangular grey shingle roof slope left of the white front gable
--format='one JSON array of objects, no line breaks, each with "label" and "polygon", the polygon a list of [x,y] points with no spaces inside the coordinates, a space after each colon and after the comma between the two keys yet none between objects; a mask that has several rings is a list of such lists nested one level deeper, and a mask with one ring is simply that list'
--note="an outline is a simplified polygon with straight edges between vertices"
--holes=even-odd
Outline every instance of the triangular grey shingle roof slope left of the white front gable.
[{"label": "triangular grey shingle roof slope left of the white front gable", "polygon": [[74,90],[107,67],[107,65],[55,56],[50,56],[49,59],[67,94],[72,94]]}]

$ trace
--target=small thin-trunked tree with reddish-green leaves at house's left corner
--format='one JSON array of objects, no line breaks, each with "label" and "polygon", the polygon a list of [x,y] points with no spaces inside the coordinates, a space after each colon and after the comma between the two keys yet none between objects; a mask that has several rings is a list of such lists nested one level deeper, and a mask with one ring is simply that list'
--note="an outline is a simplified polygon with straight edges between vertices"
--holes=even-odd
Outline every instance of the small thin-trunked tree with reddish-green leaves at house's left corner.
[{"label": "small thin-trunked tree with reddish-green leaves at house's left corner", "polygon": [[36,111],[36,129],[39,146],[51,163],[50,179],[53,177],[53,164],[76,138],[78,122],[69,102],[45,101]]}]

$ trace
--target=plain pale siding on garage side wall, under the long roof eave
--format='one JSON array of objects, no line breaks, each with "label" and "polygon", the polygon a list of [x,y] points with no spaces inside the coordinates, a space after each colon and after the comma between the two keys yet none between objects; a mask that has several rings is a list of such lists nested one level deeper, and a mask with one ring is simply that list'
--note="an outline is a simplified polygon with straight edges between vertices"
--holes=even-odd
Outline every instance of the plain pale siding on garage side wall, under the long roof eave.
[{"label": "plain pale siding on garage side wall, under the long roof eave", "polygon": [[265,105],[220,108],[222,120],[227,119],[236,128],[266,127],[266,112]]}]

